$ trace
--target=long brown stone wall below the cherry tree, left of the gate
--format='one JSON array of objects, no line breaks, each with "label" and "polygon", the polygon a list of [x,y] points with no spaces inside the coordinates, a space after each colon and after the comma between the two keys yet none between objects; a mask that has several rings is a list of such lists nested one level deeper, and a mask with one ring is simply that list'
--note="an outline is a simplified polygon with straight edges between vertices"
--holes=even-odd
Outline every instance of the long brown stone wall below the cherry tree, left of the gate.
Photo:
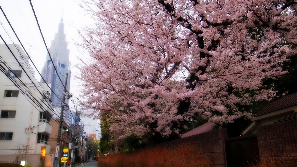
[{"label": "long brown stone wall below the cherry tree, left of the gate", "polygon": [[[199,153],[205,155],[208,159],[210,159],[213,167],[225,167],[226,160],[225,160],[225,147],[224,147],[224,138],[228,137],[227,129],[220,128],[216,130],[212,130],[210,132],[189,136],[186,138],[181,138],[169,142],[165,142],[162,144],[156,144],[153,146],[145,147],[143,149],[138,149],[132,152],[129,152],[129,157],[136,157],[138,152],[142,150],[153,150],[162,149],[162,150],[174,150],[177,148],[183,148],[184,146],[189,146],[198,150]],[[115,158],[121,159],[121,155],[125,155],[124,153],[119,153],[115,155],[109,155],[108,157],[100,157],[100,165],[103,167],[114,167],[115,165],[107,163],[108,159],[113,159],[113,161],[118,161]],[[189,158],[197,158],[193,154],[193,157]],[[119,160],[121,161],[121,160]],[[140,164],[141,165],[141,164]],[[185,164],[186,165],[186,164]],[[130,167],[128,163],[121,163],[121,167]],[[118,165],[117,165],[118,167]],[[134,167],[145,167],[143,164],[141,166],[134,166]],[[182,166],[179,166],[182,167]]]}]

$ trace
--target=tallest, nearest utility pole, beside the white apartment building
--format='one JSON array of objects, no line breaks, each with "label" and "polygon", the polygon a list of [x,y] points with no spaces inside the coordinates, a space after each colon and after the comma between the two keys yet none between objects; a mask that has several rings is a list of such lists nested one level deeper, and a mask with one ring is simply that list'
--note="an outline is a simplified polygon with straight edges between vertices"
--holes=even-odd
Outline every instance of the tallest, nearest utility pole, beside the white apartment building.
[{"label": "tallest, nearest utility pole, beside the white apartment building", "polygon": [[60,122],[59,122],[59,129],[58,129],[57,146],[56,146],[56,154],[55,154],[55,160],[54,160],[54,167],[59,167],[59,160],[60,160],[59,147],[60,147],[61,129],[62,129],[62,122],[63,122],[63,113],[64,113],[64,104],[65,104],[65,96],[66,96],[67,78],[68,78],[68,73],[66,73],[66,81],[65,81],[64,92],[63,92]]}]

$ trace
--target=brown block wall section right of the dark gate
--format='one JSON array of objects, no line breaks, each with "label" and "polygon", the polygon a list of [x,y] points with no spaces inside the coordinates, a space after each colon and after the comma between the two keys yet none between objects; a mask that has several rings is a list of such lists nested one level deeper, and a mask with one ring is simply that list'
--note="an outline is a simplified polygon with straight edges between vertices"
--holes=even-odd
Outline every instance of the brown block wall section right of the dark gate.
[{"label": "brown block wall section right of the dark gate", "polygon": [[257,127],[260,160],[297,159],[297,119]]}]

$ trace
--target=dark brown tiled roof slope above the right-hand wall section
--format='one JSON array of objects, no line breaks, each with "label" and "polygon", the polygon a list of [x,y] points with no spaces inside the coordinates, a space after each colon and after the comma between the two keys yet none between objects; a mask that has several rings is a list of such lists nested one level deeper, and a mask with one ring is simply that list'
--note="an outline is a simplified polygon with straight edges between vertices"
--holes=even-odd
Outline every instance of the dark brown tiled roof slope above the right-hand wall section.
[{"label": "dark brown tiled roof slope above the right-hand wall section", "polygon": [[297,92],[286,95],[278,100],[275,100],[271,104],[267,105],[263,110],[257,112],[257,114],[255,114],[254,116],[259,116],[266,113],[270,113],[272,111],[277,111],[282,108],[290,107],[292,105],[297,105]]}]

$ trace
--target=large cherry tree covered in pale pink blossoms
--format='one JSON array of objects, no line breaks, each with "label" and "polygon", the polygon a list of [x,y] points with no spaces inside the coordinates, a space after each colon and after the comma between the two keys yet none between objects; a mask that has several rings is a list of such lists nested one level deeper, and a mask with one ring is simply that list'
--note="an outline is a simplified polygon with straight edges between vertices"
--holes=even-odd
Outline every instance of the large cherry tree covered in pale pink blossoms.
[{"label": "large cherry tree covered in pale pink blossoms", "polygon": [[200,115],[218,124],[271,100],[263,84],[296,54],[294,0],[90,0],[81,34],[85,101],[119,137],[179,136]]}]

